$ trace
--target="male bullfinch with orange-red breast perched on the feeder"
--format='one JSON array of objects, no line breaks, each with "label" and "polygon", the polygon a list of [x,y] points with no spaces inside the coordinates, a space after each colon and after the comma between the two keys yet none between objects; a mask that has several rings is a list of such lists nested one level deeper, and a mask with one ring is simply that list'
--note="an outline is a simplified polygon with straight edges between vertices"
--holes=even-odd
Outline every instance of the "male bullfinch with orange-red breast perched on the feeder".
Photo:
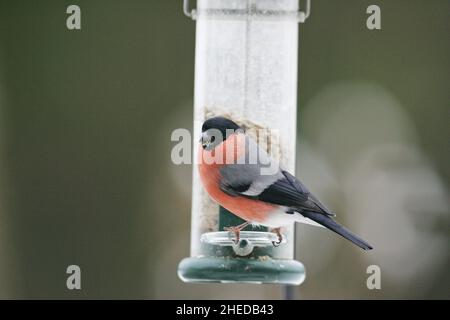
[{"label": "male bullfinch with orange-red breast perched on the feeder", "polygon": [[372,249],[334,221],[335,214],[235,122],[224,117],[206,120],[200,142],[198,168],[204,188],[219,205],[246,221],[227,229],[236,240],[249,223],[274,228],[281,241],[280,227],[306,222],[322,225],[364,250]]}]

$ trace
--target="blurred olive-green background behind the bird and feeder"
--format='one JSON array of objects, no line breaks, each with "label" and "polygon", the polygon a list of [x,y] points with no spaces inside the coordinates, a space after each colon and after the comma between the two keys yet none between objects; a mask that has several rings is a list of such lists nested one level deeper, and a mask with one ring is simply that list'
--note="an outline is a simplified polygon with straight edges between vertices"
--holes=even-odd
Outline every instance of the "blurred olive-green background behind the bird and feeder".
[{"label": "blurred olive-green background behind the bird and feeder", "polygon": [[[450,298],[449,30],[448,0],[312,1],[297,173],[375,250],[299,226],[298,298]],[[194,41],[181,0],[0,0],[1,298],[282,297],[177,278],[191,167],[170,134],[192,126]]]}]

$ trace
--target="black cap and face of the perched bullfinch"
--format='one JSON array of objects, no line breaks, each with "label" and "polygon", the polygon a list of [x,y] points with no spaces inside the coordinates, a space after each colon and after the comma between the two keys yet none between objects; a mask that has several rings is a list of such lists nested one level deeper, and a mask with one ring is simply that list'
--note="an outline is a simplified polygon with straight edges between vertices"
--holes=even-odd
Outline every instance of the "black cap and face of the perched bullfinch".
[{"label": "black cap and face of the perched bullfinch", "polygon": [[202,125],[202,146],[206,150],[211,150],[225,141],[228,136],[236,131],[244,131],[234,121],[225,117],[213,117],[207,119]]}]

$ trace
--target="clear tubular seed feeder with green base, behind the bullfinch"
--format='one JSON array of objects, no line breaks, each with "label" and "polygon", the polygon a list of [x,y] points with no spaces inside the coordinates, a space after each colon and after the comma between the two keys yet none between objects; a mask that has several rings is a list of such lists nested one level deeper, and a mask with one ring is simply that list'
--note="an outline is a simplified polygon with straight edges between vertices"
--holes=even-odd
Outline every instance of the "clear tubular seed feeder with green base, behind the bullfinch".
[{"label": "clear tubular seed feeder with green base, behind the bullfinch", "polygon": [[[309,15],[299,0],[184,1],[196,20],[194,159],[202,123],[225,116],[254,135],[288,171],[295,171],[298,23]],[[270,150],[269,150],[270,149]],[[298,285],[303,265],[294,260],[294,226],[277,235],[249,225],[236,243],[226,227],[244,221],[216,204],[193,166],[191,257],[178,275],[185,282]]]}]

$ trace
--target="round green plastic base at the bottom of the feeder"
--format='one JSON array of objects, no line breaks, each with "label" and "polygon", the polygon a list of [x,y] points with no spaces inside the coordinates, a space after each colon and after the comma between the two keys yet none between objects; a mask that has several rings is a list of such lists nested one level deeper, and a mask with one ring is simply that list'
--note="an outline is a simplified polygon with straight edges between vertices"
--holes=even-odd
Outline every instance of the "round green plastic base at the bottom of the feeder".
[{"label": "round green plastic base at the bottom of the feeder", "polygon": [[178,266],[178,276],[184,282],[299,285],[305,280],[305,268],[295,260],[270,257],[197,257],[183,259]]}]

